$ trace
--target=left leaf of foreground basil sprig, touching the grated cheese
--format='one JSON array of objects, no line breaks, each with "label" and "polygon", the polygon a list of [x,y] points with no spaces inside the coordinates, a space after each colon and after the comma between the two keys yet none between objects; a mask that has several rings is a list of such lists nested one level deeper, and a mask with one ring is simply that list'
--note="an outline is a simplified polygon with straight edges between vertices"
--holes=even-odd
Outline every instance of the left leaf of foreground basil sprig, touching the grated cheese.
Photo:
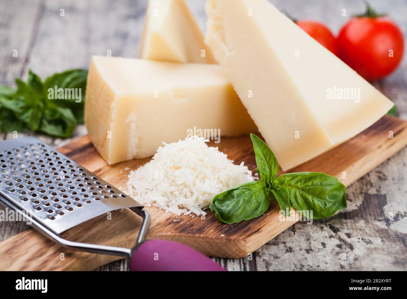
[{"label": "left leaf of foreground basil sprig, touching the grated cheese", "polygon": [[209,208],[219,221],[232,224],[262,215],[269,204],[265,183],[253,181],[218,194]]}]

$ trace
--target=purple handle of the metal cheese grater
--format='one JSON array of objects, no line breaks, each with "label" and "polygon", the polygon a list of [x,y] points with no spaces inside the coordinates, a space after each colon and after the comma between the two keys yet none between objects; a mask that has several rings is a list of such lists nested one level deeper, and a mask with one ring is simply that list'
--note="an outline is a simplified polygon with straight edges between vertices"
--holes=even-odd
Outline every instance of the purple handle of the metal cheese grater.
[{"label": "purple handle of the metal cheese grater", "polygon": [[195,249],[167,240],[147,240],[133,253],[131,271],[225,271]]}]

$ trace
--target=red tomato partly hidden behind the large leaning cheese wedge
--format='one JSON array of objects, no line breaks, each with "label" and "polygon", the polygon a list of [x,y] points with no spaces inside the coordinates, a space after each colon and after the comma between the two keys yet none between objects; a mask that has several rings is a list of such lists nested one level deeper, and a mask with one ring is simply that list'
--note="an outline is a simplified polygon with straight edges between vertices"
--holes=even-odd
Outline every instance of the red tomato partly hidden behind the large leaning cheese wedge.
[{"label": "red tomato partly hidden behind the large leaning cheese wedge", "polygon": [[295,23],[319,44],[337,55],[337,42],[328,27],[315,21],[296,21]]}]

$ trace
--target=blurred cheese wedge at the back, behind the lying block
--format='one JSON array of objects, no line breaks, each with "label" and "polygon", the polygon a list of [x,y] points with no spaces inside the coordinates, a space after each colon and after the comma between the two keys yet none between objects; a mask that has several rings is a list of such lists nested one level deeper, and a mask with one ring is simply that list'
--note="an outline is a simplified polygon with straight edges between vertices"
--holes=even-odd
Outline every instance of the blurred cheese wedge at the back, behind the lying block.
[{"label": "blurred cheese wedge at the back, behind the lying block", "polygon": [[184,0],[149,0],[140,58],[179,63],[216,63]]}]

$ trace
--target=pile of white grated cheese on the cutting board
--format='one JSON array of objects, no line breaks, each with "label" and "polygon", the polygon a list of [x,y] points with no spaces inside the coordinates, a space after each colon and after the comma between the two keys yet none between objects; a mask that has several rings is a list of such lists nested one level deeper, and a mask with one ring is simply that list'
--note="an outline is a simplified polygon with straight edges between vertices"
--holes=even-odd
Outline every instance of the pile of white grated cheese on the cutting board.
[{"label": "pile of white grated cheese on the cutting board", "polygon": [[128,175],[129,195],[139,203],[184,215],[205,215],[213,197],[253,181],[252,172],[234,165],[202,137],[163,142],[153,159]]}]

